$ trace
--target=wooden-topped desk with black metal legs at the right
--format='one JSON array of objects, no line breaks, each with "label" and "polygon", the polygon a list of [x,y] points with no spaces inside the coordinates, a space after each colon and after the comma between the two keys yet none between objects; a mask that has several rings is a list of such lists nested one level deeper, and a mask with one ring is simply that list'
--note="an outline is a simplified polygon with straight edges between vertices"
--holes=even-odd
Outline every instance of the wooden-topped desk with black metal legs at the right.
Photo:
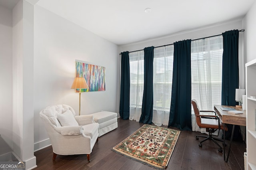
[{"label": "wooden-topped desk with black metal legs at the right", "polygon": [[[238,111],[243,111],[244,113],[241,114],[232,114],[232,113],[228,113],[228,111],[223,111],[222,109],[220,109],[220,107],[228,107],[228,108],[233,108],[236,109]],[[225,159],[225,130],[223,130],[223,139],[224,139],[224,146],[223,146],[223,150],[224,150],[224,161],[228,162],[228,157],[230,154],[230,148],[231,148],[231,144],[232,144],[232,140],[233,140],[233,136],[234,136],[234,129],[235,129],[235,125],[240,125],[240,126],[246,126],[246,111],[244,111],[242,108],[238,108],[238,107],[234,107],[234,106],[220,106],[220,105],[214,105],[214,111],[217,113],[218,117],[220,118],[220,121],[223,123],[224,125],[224,129],[225,129],[225,124],[231,124],[233,125],[232,128],[232,134],[231,134],[231,138],[230,138],[230,144],[229,144],[229,149],[228,149],[228,155],[227,155],[227,159]]]}]

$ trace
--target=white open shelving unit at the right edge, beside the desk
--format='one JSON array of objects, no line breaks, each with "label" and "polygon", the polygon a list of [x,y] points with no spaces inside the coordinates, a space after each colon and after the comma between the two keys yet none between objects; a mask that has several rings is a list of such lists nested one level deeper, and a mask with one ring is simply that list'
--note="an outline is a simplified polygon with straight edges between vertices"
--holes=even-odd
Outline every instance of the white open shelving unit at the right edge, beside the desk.
[{"label": "white open shelving unit at the right edge, beside the desk", "polygon": [[246,63],[246,150],[247,169],[256,170],[256,59]]}]

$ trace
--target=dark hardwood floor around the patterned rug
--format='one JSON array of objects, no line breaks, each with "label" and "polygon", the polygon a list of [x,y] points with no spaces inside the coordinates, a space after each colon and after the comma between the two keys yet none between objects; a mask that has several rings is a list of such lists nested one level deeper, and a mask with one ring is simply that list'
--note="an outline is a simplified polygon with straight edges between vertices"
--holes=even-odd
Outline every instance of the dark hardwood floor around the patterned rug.
[{"label": "dark hardwood floor around the patterned rug", "polygon": [[[118,128],[99,138],[91,153],[91,162],[86,154],[61,156],[52,161],[52,146],[34,153],[40,170],[148,170],[154,169],[135,160],[113,152],[111,149],[143,124],[136,121],[118,119]],[[163,126],[166,127],[166,126]],[[177,128],[174,128],[177,130]],[[246,144],[233,142],[228,162],[210,140],[198,146],[195,139],[200,132],[181,131],[167,170],[243,170]],[[199,139],[200,140],[200,139]],[[71,143],[70,143],[71,144]]]}]

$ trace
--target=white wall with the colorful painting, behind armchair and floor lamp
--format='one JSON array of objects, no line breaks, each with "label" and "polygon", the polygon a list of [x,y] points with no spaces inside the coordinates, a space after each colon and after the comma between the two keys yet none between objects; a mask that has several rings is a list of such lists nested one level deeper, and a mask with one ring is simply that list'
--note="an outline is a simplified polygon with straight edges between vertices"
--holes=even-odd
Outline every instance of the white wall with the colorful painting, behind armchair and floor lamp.
[{"label": "white wall with the colorful painting, behind armchair and floor lamp", "polygon": [[[102,28],[104,29],[104,28]],[[78,115],[79,95],[70,89],[75,60],[106,67],[106,91],[81,94],[81,115],[116,112],[118,47],[35,5],[34,7],[34,141],[49,144],[39,112],[49,105],[70,105]]]}]

